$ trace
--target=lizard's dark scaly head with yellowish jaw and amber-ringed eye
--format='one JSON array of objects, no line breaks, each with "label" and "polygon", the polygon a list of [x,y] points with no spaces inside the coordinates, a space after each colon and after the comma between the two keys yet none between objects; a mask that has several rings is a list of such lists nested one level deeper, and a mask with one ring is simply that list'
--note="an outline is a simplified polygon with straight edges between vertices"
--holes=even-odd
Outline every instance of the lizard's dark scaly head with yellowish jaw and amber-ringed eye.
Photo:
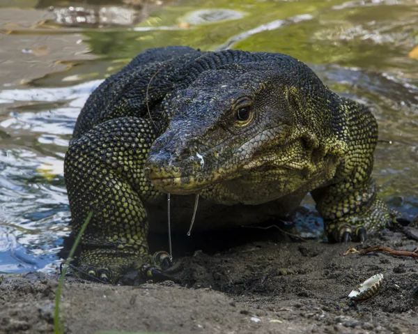
[{"label": "lizard's dark scaly head with yellowish jaw and amber-ringed eye", "polygon": [[309,74],[318,82],[304,82],[277,63],[201,73],[164,100],[169,125],[150,149],[146,176],[164,192],[189,194],[214,183],[306,173],[308,151],[330,131],[329,117],[319,112],[329,103],[327,89]]}]

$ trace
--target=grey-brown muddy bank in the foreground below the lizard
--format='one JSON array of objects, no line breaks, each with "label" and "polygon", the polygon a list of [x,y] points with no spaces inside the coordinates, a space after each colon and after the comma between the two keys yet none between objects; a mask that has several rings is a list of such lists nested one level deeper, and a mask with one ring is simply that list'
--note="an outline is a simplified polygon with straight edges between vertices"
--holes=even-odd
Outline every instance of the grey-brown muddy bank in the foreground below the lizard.
[{"label": "grey-brown muddy bank in the foreground below the lizard", "polygon": [[[385,231],[382,243],[412,251],[416,241]],[[348,255],[351,243],[253,241],[178,263],[181,284],[111,286],[68,278],[66,333],[417,333],[418,261],[383,253]],[[350,303],[366,278],[385,275],[380,294]],[[0,333],[52,333],[56,276],[5,275]]]}]

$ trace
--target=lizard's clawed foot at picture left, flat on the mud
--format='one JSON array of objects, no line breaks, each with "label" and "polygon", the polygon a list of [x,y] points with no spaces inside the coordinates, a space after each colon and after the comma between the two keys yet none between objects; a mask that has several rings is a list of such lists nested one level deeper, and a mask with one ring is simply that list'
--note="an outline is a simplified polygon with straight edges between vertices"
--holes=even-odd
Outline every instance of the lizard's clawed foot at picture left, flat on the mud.
[{"label": "lizard's clawed foot at picture left, flat on the mud", "polygon": [[83,278],[102,283],[117,284],[127,273],[137,273],[142,280],[170,280],[164,274],[171,266],[167,252],[149,254],[124,254],[115,250],[85,250],[79,259],[79,270]]}]

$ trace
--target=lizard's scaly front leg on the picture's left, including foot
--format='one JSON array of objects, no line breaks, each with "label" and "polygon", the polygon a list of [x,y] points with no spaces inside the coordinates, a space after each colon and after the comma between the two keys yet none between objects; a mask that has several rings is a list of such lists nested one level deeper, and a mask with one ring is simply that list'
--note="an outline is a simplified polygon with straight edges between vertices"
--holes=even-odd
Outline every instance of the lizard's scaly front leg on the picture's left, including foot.
[{"label": "lizard's scaly front leg on the picture's left, including foot", "polygon": [[144,177],[156,134],[150,121],[113,119],[70,143],[64,174],[75,234],[93,211],[82,236],[79,267],[116,283],[127,271],[150,277],[169,266],[169,255],[148,252],[144,202],[161,196]]}]

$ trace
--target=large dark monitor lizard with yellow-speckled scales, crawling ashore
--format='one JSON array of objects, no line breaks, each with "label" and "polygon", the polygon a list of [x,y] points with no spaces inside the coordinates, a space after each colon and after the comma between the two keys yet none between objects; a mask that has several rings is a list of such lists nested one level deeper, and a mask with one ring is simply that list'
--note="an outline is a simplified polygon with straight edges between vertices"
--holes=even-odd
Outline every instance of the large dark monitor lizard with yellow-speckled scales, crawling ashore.
[{"label": "large dark monitor lizard with yellow-speckled scales, crawling ashore", "polygon": [[331,240],[363,241],[396,216],[370,176],[377,137],[369,109],[290,56],[147,50],[92,93],[65,155],[75,233],[93,210],[79,265],[110,282],[159,275],[169,260],[149,255],[147,215],[167,192],[231,215],[311,192]]}]

